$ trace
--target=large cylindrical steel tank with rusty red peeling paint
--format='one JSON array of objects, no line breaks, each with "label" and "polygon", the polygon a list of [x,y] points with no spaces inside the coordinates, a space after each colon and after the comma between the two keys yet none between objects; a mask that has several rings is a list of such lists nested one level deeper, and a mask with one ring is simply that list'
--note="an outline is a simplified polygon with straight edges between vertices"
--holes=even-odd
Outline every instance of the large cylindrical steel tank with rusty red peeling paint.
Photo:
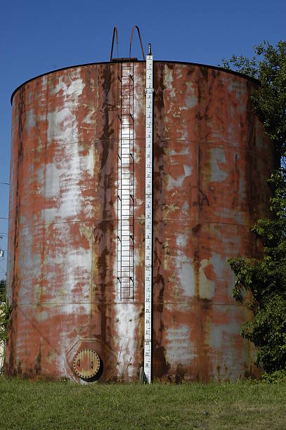
[{"label": "large cylindrical steel tank with rusty red peeling paint", "polygon": [[[6,374],[138,380],[143,365],[145,63],[134,67],[134,299],[117,294],[119,67],[69,67],[13,93]],[[126,61],[126,65],[128,62]],[[227,259],[261,252],[273,149],[253,79],[154,63],[152,376],[255,374]],[[89,354],[84,356],[84,354]],[[79,366],[77,368],[77,365]],[[93,368],[94,370],[94,368]],[[82,375],[82,377],[81,377]]]}]

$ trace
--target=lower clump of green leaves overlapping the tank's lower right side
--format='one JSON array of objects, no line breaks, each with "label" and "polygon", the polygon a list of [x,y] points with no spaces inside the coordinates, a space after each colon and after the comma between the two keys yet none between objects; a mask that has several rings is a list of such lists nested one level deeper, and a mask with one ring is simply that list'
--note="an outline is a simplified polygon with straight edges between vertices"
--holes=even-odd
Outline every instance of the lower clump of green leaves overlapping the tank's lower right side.
[{"label": "lower clump of green leaves overlapping the tank's lower right side", "polygon": [[264,258],[230,259],[236,280],[233,297],[243,301],[252,293],[252,321],[242,326],[242,337],[258,348],[255,364],[266,372],[286,369],[286,218],[285,168],[273,172],[271,210],[275,219],[260,219],[252,232],[264,246]]}]

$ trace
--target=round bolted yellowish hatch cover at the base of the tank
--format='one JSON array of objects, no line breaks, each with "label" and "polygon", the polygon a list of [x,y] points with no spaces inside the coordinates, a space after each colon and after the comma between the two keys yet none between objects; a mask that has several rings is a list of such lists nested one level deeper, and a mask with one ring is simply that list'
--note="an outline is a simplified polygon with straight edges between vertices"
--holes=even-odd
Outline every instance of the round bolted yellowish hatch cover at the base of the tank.
[{"label": "round bolted yellowish hatch cover at the base of the tank", "polygon": [[91,379],[96,376],[100,367],[100,358],[93,349],[81,349],[74,356],[74,372],[82,379]]}]

